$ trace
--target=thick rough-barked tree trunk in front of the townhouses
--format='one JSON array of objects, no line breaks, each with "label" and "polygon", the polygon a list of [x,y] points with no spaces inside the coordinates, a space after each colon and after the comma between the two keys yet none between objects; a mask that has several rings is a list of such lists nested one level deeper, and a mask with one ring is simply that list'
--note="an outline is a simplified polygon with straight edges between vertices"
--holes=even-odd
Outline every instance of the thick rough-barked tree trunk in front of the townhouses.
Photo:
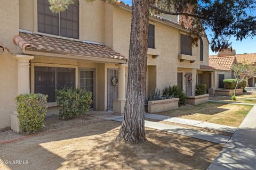
[{"label": "thick rough-barked tree trunk in front of the townhouses", "polygon": [[130,143],[145,141],[145,93],[149,0],[132,1],[128,84],[124,120],[117,136]]}]

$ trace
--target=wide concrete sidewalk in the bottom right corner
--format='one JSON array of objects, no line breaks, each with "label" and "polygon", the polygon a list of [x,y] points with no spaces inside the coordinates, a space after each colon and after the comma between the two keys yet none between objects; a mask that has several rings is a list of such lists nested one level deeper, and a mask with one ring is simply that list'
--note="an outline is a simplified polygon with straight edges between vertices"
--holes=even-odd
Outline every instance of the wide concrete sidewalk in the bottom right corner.
[{"label": "wide concrete sidewalk in the bottom right corner", "polygon": [[208,169],[256,169],[256,106]]}]

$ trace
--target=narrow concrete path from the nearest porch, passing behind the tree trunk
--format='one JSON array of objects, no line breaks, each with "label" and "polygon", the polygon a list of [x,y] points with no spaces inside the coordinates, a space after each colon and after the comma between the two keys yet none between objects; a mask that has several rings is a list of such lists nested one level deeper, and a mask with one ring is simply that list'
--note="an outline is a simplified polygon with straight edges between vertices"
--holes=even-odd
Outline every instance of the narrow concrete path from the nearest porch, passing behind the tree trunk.
[{"label": "narrow concrete path from the nearest porch, passing behind the tree trunk", "polygon": [[[104,118],[106,120],[111,120],[111,121],[117,121],[117,122],[123,121],[123,116],[114,115],[111,112],[89,112],[89,115],[99,117],[99,118]],[[156,129],[156,130],[162,130],[166,132],[171,132],[175,134],[185,135],[187,137],[206,140],[214,143],[219,143],[221,145],[225,145],[226,142],[230,139],[230,137],[227,137],[221,134],[203,132],[203,131],[185,128],[182,126],[169,125],[169,124],[151,122],[151,121],[145,121],[145,127]]]}]

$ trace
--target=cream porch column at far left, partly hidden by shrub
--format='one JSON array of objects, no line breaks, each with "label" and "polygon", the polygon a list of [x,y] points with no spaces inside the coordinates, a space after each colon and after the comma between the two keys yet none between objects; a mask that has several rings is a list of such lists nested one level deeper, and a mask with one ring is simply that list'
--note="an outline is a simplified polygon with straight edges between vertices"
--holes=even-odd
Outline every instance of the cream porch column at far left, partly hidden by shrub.
[{"label": "cream porch column at far left, partly hidden by shrub", "polygon": [[[18,67],[18,95],[29,94],[30,92],[30,81],[29,81],[29,61],[33,60],[34,56],[31,55],[15,55],[14,58],[17,59]],[[11,129],[15,132],[19,132],[19,119],[17,111],[13,111],[11,114]]]}]

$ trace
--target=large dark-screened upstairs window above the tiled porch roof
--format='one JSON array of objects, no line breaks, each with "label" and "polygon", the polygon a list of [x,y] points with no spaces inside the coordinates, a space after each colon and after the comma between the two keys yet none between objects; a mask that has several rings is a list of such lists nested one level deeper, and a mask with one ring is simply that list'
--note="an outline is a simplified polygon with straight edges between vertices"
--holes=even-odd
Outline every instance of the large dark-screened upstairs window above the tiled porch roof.
[{"label": "large dark-screened upstairs window above the tiled porch roof", "polygon": [[37,1],[38,32],[78,39],[79,5],[74,1],[65,12],[52,13],[47,0]]}]

